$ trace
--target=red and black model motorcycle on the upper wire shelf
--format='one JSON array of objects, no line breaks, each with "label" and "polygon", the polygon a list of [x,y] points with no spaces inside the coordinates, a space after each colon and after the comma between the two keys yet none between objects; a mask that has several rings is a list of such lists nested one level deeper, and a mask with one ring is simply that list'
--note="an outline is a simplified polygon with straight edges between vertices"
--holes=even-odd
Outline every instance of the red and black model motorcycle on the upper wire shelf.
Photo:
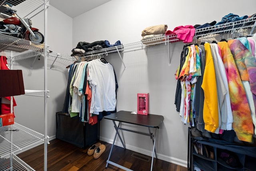
[{"label": "red and black model motorcycle on the upper wire shelf", "polygon": [[31,27],[32,21],[30,19],[20,18],[11,9],[8,10],[8,13],[12,16],[0,22],[0,34],[27,39],[40,44],[44,42],[44,35],[38,32],[37,28]]}]

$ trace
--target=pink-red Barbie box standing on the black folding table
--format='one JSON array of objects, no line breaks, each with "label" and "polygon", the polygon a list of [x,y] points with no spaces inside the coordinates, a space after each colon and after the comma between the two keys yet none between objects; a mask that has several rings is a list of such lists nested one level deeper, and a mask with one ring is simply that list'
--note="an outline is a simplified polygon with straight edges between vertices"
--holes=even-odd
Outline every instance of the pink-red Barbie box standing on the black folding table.
[{"label": "pink-red Barbie box standing on the black folding table", "polygon": [[148,115],[149,93],[137,93],[137,114]]}]

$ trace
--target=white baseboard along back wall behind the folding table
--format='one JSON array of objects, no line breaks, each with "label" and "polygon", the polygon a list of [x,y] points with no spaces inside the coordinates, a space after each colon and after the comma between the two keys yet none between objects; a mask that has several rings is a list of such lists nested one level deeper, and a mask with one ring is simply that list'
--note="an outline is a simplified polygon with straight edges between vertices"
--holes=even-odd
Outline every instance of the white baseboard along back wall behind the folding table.
[{"label": "white baseboard along back wall behind the folding table", "polygon": [[[113,139],[108,139],[108,138],[102,137],[102,136],[100,136],[100,141],[104,141],[104,142],[110,143],[110,144],[113,143]],[[116,141],[115,145],[117,145],[119,147],[123,147],[123,145],[120,141]],[[125,144],[125,146],[126,146],[126,149],[129,149],[129,150],[132,150],[132,151],[144,154],[144,155],[152,156],[152,151],[150,151],[150,150],[138,148],[138,147],[135,147],[134,145],[129,145],[129,144]],[[176,164],[176,165],[180,165],[182,167],[188,167],[187,161],[185,161],[185,160],[181,160],[181,159],[178,159],[175,157],[163,155],[160,153],[157,153],[157,156],[158,156],[158,159],[161,159],[161,160],[164,160],[164,161]],[[154,155],[154,157],[156,157],[156,156]]]}]

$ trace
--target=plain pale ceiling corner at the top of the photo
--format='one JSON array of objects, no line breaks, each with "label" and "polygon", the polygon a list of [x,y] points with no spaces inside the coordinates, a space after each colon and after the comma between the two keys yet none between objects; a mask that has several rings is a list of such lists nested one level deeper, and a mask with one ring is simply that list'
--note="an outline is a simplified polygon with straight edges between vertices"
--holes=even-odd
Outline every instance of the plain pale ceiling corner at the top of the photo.
[{"label": "plain pale ceiling corner at the top of the photo", "polygon": [[110,0],[50,0],[50,6],[54,6],[71,18],[79,16]]}]

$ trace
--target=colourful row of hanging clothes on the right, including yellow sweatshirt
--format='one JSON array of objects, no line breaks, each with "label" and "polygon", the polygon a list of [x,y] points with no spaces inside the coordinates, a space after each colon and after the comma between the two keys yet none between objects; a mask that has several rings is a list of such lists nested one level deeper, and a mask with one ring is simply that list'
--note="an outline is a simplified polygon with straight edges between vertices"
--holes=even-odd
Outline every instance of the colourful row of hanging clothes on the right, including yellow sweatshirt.
[{"label": "colourful row of hanging clothes on the right, including yellow sweatshirt", "polygon": [[[180,81],[177,87],[182,89],[175,104],[180,104],[183,123],[217,134],[234,129],[239,140],[252,142],[256,133],[255,38],[206,42],[198,50],[197,46],[186,47],[188,53],[175,75]],[[191,68],[195,66],[195,52],[199,52],[200,69]],[[194,69],[201,72],[196,80]]]}]

